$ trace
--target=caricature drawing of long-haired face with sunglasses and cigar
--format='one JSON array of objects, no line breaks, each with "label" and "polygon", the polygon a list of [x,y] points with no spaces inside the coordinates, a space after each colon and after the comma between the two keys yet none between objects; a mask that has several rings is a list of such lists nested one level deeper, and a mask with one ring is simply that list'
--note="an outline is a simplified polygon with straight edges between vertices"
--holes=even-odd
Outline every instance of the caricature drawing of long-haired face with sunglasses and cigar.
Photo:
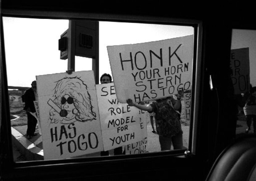
[{"label": "caricature drawing of long-haired face with sunglasses and cigar", "polygon": [[75,121],[96,120],[91,96],[87,85],[79,77],[65,77],[56,82],[52,98],[48,105],[50,123],[70,124]]}]

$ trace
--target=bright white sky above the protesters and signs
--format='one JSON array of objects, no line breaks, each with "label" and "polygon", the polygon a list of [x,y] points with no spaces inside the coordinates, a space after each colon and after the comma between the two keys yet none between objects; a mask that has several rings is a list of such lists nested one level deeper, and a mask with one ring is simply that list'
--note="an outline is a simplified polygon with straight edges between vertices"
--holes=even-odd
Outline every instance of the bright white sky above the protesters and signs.
[{"label": "bright white sky above the protesters and signs", "polygon": [[[58,40],[68,20],[3,17],[8,86],[31,87],[36,75],[65,72]],[[111,74],[107,46],[165,40],[194,34],[193,27],[99,22],[99,77]],[[75,71],[92,70],[92,60],[75,57]]]}]

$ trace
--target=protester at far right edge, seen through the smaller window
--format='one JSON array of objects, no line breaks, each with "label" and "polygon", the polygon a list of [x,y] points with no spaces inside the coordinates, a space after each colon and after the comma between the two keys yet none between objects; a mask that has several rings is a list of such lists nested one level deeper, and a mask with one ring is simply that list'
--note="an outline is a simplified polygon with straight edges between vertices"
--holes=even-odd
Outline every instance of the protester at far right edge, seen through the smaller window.
[{"label": "protester at far right edge, seen through the smaller window", "polygon": [[248,126],[245,133],[249,133],[253,121],[253,133],[256,134],[256,87],[252,87],[249,93],[249,98],[244,106],[244,114]]}]

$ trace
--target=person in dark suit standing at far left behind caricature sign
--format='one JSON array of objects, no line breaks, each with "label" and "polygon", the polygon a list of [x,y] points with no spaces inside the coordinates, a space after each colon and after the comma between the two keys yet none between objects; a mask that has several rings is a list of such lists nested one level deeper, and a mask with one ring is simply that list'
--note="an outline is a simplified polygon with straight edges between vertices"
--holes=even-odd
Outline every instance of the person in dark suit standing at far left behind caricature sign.
[{"label": "person in dark suit standing at far left behind caricature sign", "polygon": [[37,124],[37,119],[31,114],[35,113],[34,101],[37,99],[36,81],[31,83],[31,88],[25,92],[22,99],[25,102],[24,110],[27,113],[27,138],[31,138],[36,135],[35,127]]}]

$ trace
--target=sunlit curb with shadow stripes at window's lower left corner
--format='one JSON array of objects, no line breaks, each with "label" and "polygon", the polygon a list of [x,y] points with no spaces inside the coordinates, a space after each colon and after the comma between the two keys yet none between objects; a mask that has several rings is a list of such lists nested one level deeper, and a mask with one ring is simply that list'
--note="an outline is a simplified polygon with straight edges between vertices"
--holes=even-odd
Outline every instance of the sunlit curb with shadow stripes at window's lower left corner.
[{"label": "sunlit curb with shadow stripes at window's lower left corner", "polygon": [[43,160],[43,149],[37,147],[18,130],[11,127],[12,142],[24,154],[26,160]]}]

